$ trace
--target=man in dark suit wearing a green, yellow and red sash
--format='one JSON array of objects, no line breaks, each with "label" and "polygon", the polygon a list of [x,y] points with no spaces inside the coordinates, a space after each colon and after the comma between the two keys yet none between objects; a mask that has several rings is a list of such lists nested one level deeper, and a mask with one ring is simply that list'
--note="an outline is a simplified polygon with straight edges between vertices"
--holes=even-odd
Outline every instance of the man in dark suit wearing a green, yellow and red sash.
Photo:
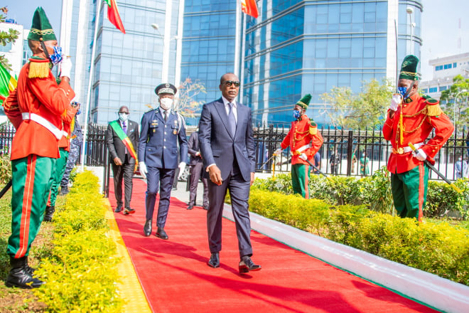
[{"label": "man in dark suit wearing a green, yellow and red sash", "polygon": [[[122,179],[124,178],[124,214],[135,213],[130,207],[132,198],[132,178],[134,177],[136,150],[139,149],[139,124],[129,118],[129,108],[119,107],[119,120],[107,126],[106,142],[111,155],[112,174],[114,176],[114,193],[117,207],[114,212],[122,211]],[[131,147],[126,139],[130,139]]]}]

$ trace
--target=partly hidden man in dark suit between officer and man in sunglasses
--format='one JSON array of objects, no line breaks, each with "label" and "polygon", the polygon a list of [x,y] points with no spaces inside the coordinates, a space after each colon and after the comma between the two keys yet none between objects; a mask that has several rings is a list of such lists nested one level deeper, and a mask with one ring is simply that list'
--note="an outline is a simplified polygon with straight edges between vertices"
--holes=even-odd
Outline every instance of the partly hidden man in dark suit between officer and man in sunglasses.
[{"label": "partly hidden man in dark suit between officer and man in sunglasses", "polygon": [[[202,174],[203,162],[200,156],[198,129],[190,134],[188,152],[190,154],[190,181],[188,210],[192,210],[197,199],[197,185]],[[203,183],[203,208],[208,210],[208,179],[202,178]]]}]

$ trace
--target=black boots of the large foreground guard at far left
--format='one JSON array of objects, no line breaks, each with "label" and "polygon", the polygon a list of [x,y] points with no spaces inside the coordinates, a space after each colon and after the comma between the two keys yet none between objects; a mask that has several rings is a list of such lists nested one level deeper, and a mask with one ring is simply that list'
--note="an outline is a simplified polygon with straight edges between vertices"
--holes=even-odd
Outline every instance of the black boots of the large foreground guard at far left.
[{"label": "black boots of the large foreground guard at far left", "polygon": [[6,287],[19,287],[23,289],[37,288],[45,282],[31,276],[31,267],[28,267],[28,257],[13,258],[10,257],[11,270],[6,277]]}]

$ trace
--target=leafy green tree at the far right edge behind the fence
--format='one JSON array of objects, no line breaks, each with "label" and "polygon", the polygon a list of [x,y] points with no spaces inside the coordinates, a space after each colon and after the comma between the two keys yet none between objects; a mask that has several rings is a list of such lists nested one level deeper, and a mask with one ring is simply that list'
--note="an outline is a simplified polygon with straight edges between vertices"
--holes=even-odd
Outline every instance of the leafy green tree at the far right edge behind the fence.
[{"label": "leafy green tree at the far right edge behind the fence", "polygon": [[[462,92],[462,90],[466,90],[466,92]],[[458,99],[455,99],[457,95]],[[441,106],[443,112],[453,118],[455,126],[467,125],[469,122],[468,97],[469,78],[464,78],[462,75],[456,75],[453,78],[453,85],[441,92],[440,101],[446,102],[446,105]]]}]

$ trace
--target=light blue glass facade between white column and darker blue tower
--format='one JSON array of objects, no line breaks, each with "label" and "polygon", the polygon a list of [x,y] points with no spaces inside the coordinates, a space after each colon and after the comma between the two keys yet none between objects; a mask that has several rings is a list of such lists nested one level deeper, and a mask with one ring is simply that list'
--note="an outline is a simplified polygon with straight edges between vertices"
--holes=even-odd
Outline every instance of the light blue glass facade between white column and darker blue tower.
[{"label": "light blue glass facade between white column and darker blue tower", "polygon": [[[195,101],[206,103],[220,98],[220,77],[234,71],[236,5],[236,1],[184,1],[180,79],[199,80],[207,91]],[[186,122],[197,124],[198,117]]]}]

